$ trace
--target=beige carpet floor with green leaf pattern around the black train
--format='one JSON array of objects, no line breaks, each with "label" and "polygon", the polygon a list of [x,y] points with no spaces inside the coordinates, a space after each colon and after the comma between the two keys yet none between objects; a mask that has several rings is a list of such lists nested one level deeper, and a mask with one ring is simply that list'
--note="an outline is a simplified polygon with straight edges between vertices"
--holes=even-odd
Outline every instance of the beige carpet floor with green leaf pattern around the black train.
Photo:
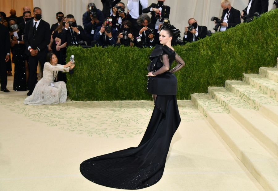
[{"label": "beige carpet floor with green leaf pattern around the black train", "polygon": [[[0,92],[0,190],[116,190],[79,172],[88,158],[137,146],[151,101],[29,106],[27,92]],[[178,101],[182,122],[162,179],[144,190],[263,190],[191,101]]]}]

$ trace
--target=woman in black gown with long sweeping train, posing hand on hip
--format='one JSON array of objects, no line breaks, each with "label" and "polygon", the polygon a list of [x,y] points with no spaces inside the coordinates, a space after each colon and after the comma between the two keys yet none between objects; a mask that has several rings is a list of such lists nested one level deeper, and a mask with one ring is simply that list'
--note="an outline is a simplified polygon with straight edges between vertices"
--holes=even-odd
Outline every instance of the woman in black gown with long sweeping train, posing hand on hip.
[{"label": "woman in black gown with long sweeping train, posing hand on hip", "polygon": [[[162,177],[171,139],[180,124],[173,72],[185,65],[171,47],[174,35],[179,30],[172,25],[162,29],[159,40],[163,46],[157,45],[150,55],[147,86],[155,106],[140,144],[82,162],[80,172],[88,180],[112,188],[142,189]],[[178,65],[170,70],[174,60]]]}]

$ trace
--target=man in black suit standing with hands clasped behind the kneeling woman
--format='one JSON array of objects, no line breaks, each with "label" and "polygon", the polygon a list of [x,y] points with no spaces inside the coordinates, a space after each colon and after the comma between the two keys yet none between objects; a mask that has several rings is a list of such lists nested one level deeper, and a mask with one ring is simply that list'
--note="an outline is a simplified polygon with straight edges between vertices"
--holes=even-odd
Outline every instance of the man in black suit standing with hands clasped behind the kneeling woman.
[{"label": "man in black suit standing with hands clasped behind the kneeling woman", "polygon": [[50,25],[41,19],[41,9],[35,7],[33,10],[34,19],[28,21],[24,28],[23,40],[26,46],[26,54],[29,56],[28,68],[29,79],[27,95],[31,95],[36,86],[37,66],[40,61],[41,70],[44,70],[47,45],[50,42]]}]

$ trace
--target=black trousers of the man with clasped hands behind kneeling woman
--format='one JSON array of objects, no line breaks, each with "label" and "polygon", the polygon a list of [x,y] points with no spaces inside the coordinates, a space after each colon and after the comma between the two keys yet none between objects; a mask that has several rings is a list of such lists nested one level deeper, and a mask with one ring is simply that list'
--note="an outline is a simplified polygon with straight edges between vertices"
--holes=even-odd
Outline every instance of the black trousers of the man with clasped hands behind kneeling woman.
[{"label": "black trousers of the man with clasped hands behind kneeling woman", "polygon": [[37,67],[40,61],[41,71],[44,71],[44,63],[46,62],[46,54],[41,53],[37,56],[29,56],[28,68],[29,68],[29,78],[28,78],[28,89],[33,91],[37,83]]}]

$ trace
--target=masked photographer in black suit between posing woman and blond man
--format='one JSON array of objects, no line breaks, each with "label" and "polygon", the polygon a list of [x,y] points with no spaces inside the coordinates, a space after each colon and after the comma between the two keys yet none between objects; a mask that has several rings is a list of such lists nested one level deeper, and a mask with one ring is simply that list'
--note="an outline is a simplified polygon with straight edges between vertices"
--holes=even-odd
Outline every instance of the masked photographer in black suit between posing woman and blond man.
[{"label": "masked photographer in black suit between posing woman and blond man", "polygon": [[188,27],[185,28],[183,41],[194,42],[207,36],[208,28],[206,26],[199,26],[194,18],[188,20],[188,24],[193,26],[191,31]]}]

